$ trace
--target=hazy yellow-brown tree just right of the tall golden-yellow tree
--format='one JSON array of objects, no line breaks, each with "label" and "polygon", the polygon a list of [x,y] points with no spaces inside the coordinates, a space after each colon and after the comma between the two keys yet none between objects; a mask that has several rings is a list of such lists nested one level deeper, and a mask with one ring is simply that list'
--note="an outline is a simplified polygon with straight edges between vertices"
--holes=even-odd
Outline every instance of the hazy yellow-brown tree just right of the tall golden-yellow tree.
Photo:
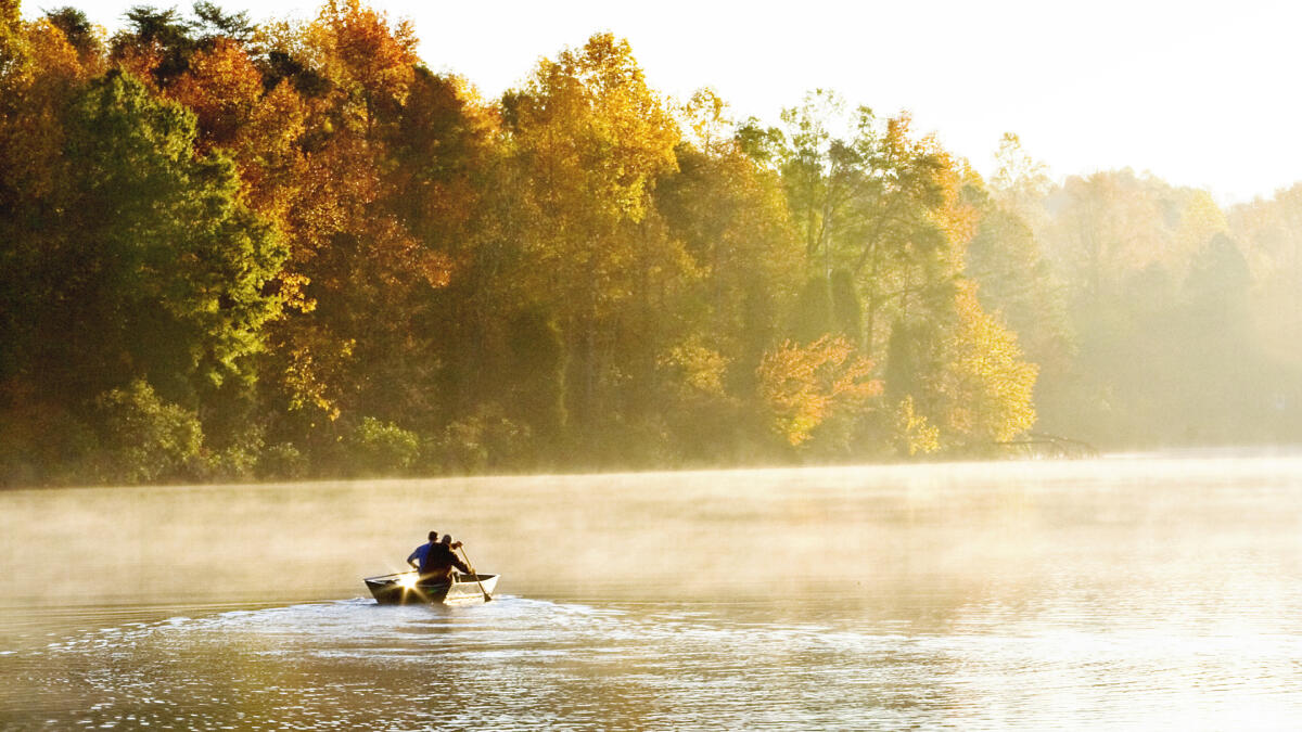
[{"label": "hazy yellow-brown tree just right of the tall golden-yellow tree", "polygon": [[668,303],[677,331],[660,345],[658,393],[677,453],[715,461],[767,439],[756,374],[803,257],[781,178],[746,154],[728,106],[702,90],[678,113],[678,167],[658,181],[655,206],[691,267]]}]

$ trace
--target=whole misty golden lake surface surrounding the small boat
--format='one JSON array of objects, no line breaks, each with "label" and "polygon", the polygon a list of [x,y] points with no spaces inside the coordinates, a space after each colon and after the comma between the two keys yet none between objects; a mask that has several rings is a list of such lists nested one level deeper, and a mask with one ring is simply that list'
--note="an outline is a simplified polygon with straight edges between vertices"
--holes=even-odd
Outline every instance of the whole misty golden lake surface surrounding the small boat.
[{"label": "whole misty golden lake surface surrounding the small boat", "polygon": [[[491,603],[379,607],[426,531]],[[1302,720],[1302,457],[0,492],[0,728]]]}]

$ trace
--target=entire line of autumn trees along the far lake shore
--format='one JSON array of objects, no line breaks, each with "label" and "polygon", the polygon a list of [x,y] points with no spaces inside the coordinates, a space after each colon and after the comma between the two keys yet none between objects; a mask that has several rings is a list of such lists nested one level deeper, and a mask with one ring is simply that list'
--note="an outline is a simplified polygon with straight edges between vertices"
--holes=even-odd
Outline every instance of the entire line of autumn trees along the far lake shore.
[{"label": "entire line of autumn trees along the far lake shore", "polygon": [[609,34],[483,99],[359,0],[0,8],[3,483],[991,456],[1036,405],[1298,432],[1254,314],[1302,194],[1055,185],[1012,137],[986,181],[831,92],[671,100]]}]

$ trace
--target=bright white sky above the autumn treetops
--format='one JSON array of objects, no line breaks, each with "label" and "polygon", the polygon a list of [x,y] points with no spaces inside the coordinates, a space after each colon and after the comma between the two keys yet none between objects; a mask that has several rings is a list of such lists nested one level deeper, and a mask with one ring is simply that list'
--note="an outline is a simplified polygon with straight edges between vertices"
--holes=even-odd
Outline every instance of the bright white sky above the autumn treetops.
[{"label": "bright white sky above the autumn treetops", "polygon": [[[108,29],[132,0],[73,4]],[[171,7],[168,0],[156,1]],[[246,9],[219,0],[228,10]],[[832,89],[991,172],[1004,132],[1055,176],[1131,167],[1223,202],[1302,180],[1297,33],[1302,4],[1091,0],[374,0],[408,17],[421,56],[496,96],[542,56],[609,30],[648,82],[685,99],[713,87],[738,119],[776,122],[807,90]],[[26,0],[27,16],[38,5]],[[181,3],[184,8],[185,4]],[[318,5],[262,0],[254,20],[307,18]]]}]

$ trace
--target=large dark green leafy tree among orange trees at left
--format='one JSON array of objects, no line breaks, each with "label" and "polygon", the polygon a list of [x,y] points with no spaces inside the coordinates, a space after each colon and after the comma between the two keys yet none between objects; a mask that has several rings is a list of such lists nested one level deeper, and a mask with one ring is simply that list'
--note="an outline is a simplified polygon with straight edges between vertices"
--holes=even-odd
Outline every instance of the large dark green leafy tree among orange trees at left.
[{"label": "large dark green leafy tree among orange trees at left", "polygon": [[189,112],[124,74],[74,102],[66,155],[77,165],[46,262],[68,288],[64,339],[43,339],[79,353],[51,358],[79,363],[66,383],[146,375],[190,401],[203,387],[253,379],[262,326],[281,306],[264,288],[285,249],[242,204],[230,160],[195,159],[194,137]]}]

